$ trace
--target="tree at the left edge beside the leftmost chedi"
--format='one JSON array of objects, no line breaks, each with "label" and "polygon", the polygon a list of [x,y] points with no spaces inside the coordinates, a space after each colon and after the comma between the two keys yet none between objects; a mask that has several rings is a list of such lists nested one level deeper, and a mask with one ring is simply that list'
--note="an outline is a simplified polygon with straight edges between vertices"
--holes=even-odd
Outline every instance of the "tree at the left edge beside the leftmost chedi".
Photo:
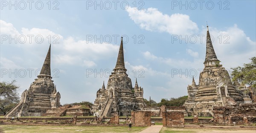
[{"label": "tree at the left edge beside the leftmost chedi", "polygon": [[0,114],[6,115],[18,102],[16,80],[12,82],[0,82]]}]

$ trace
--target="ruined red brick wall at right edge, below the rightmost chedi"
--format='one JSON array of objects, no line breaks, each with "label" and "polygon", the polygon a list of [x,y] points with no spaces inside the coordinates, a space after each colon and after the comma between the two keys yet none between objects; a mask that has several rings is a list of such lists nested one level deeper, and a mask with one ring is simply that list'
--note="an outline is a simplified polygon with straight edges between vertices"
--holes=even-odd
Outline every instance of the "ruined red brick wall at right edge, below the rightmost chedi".
[{"label": "ruined red brick wall at right edge, below the rightmost chedi", "polygon": [[236,122],[238,125],[247,125],[256,123],[256,103],[240,104],[233,107],[214,107],[214,121],[217,124],[232,125]]}]

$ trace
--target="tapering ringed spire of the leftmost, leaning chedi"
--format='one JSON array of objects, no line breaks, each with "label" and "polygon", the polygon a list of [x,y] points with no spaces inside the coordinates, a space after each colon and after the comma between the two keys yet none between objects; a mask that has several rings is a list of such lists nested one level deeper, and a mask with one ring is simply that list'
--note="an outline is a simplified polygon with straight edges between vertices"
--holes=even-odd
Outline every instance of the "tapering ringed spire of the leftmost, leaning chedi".
[{"label": "tapering ringed spire of the leftmost, leaning chedi", "polygon": [[50,45],[48,53],[45,57],[44,64],[41,69],[40,75],[51,76],[51,45]]}]

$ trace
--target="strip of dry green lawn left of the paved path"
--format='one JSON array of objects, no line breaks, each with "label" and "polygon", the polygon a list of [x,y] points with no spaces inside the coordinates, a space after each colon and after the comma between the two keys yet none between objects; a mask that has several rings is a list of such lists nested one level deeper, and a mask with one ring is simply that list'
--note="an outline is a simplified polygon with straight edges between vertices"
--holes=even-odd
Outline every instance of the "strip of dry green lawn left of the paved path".
[{"label": "strip of dry green lawn left of the paved path", "polygon": [[145,128],[132,127],[128,131],[128,127],[1,125],[0,130],[4,133],[138,133]]}]

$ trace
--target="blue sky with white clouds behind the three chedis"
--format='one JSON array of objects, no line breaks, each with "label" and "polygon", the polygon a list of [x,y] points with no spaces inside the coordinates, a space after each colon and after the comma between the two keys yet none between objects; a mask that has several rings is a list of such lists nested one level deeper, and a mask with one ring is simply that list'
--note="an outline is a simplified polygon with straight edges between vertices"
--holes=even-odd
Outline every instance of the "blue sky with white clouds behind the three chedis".
[{"label": "blue sky with white clouds behind the three chedis", "polygon": [[145,99],[185,96],[204,68],[207,25],[227,71],[256,56],[255,0],[0,0],[0,81],[28,89],[51,43],[61,104],[94,102],[123,37],[125,68]]}]

